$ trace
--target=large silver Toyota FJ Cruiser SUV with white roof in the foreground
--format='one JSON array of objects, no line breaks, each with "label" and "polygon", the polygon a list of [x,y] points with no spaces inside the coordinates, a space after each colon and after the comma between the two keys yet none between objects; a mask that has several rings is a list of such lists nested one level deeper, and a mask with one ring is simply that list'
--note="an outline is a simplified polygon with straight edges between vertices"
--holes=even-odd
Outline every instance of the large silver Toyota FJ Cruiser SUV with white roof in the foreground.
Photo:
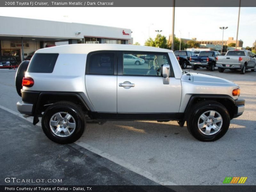
[{"label": "large silver Toyota FJ Cruiser SUV with white roof in the foreground", "polygon": [[[140,59],[149,57],[150,67]],[[42,116],[45,135],[57,143],[72,143],[86,123],[106,120],[187,121],[196,139],[214,141],[244,112],[237,84],[182,72],[167,49],[71,44],[40,49],[25,65],[16,75],[17,108],[34,116],[33,124]]]}]

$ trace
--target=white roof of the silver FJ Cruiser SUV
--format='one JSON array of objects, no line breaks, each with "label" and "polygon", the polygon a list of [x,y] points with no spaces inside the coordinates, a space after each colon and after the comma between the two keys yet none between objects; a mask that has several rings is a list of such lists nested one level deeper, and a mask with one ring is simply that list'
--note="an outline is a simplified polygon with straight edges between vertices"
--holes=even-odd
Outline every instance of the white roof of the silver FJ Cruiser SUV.
[{"label": "white roof of the silver FJ Cruiser SUV", "polygon": [[157,47],[124,45],[124,44],[69,44],[39,49],[36,53],[69,53],[69,54],[88,54],[93,51],[142,51],[142,52],[173,52],[169,49]]}]

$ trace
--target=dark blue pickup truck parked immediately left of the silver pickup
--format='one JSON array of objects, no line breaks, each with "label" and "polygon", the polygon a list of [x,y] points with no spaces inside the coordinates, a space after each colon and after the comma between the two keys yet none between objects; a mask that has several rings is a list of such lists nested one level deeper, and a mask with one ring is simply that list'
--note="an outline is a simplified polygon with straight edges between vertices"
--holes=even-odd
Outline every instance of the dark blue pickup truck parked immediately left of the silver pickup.
[{"label": "dark blue pickup truck parked immediately left of the silver pickup", "polygon": [[201,51],[198,56],[190,57],[190,64],[194,70],[203,67],[214,71],[216,57],[220,55],[220,52],[217,51]]}]

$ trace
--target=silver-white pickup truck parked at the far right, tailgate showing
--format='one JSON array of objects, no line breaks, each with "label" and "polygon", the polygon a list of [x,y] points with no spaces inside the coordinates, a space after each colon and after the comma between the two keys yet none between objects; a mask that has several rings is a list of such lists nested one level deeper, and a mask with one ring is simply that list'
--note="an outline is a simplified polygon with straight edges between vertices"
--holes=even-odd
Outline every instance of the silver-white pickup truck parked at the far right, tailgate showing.
[{"label": "silver-white pickup truck parked at the far right, tailgate showing", "polygon": [[241,74],[245,74],[246,69],[256,71],[256,55],[249,50],[230,50],[225,56],[218,56],[216,60],[220,73],[225,69],[241,69]]}]

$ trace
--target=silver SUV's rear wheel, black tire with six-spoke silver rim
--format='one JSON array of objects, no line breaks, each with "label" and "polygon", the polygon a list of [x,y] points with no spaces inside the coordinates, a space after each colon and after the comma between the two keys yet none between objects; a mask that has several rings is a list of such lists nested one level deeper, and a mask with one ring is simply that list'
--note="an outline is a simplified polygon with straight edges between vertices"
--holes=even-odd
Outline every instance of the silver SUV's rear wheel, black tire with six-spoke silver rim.
[{"label": "silver SUV's rear wheel, black tire with six-spoke silver rim", "polygon": [[56,102],[44,112],[42,129],[45,135],[53,142],[60,144],[73,143],[84,132],[84,113],[72,102]]}]

